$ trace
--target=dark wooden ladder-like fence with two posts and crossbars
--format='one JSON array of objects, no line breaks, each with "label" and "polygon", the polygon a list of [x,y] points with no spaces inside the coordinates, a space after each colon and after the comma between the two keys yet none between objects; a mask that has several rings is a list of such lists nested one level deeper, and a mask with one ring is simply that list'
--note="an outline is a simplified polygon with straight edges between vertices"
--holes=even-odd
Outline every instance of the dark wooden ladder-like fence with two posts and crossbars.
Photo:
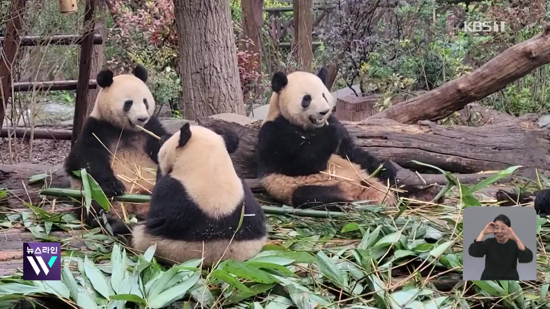
[{"label": "dark wooden ladder-like fence with two posts and crossbars", "polygon": [[[82,35],[57,35],[49,37],[21,36],[23,29],[22,15],[27,0],[11,0],[10,16],[5,27],[5,37],[0,37],[0,130],[5,117],[4,104],[7,106],[13,92],[36,90],[76,90],[72,142],[74,144],[82,129],[87,111],[89,89],[96,89],[96,81],[90,80],[90,63],[94,45],[101,45],[101,35],[94,34],[94,12],[96,0],[86,0],[84,14],[85,30]],[[101,1],[101,0],[100,0]],[[13,82],[12,69],[17,60],[19,46],[40,45],[80,45],[80,62],[78,80]],[[2,57],[3,53],[3,57]],[[2,102],[3,101],[3,102]],[[93,102],[92,102],[93,104]]]}]

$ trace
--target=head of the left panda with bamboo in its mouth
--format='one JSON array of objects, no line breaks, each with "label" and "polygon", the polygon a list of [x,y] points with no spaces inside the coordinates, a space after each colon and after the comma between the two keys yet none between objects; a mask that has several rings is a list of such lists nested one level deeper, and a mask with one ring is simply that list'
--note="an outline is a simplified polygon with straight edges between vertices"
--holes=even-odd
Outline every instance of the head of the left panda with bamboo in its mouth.
[{"label": "head of the left panda with bamboo in its mouth", "polygon": [[90,115],[127,130],[147,124],[155,112],[155,99],[145,84],[147,70],[137,65],[133,73],[113,77],[111,70],[100,71],[96,82],[101,90]]}]

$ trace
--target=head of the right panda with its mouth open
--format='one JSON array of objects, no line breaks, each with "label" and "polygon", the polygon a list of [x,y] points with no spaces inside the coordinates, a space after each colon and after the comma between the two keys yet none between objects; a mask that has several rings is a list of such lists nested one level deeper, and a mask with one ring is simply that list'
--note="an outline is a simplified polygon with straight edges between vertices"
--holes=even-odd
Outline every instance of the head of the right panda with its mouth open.
[{"label": "head of the right panda with its mouth open", "polygon": [[321,128],[332,114],[336,100],[325,86],[327,70],[317,75],[294,71],[288,75],[273,74],[273,94],[265,121],[274,120],[282,114],[290,123],[305,130]]}]

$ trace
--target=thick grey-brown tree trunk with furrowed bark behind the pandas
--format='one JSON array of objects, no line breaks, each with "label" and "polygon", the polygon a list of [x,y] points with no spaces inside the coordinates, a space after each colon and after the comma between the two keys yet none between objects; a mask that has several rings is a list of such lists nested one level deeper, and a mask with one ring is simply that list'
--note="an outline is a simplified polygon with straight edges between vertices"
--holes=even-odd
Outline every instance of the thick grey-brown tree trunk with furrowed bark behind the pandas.
[{"label": "thick grey-brown tree trunk with furrowed bark behind the pandas", "polygon": [[229,2],[174,0],[174,10],[184,118],[244,115]]}]

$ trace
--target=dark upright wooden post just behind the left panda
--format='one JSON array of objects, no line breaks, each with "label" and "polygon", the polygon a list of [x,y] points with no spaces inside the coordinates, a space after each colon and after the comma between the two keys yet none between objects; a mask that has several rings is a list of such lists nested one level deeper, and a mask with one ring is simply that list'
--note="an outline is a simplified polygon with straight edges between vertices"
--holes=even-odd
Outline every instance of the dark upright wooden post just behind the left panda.
[{"label": "dark upright wooden post just behind the left panda", "polygon": [[80,45],[80,63],[78,69],[78,84],[76,85],[76,102],[74,104],[73,139],[71,146],[80,135],[87,112],[88,84],[90,81],[90,62],[94,50],[94,10],[96,0],[86,1],[84,14],[84,40]]}]

